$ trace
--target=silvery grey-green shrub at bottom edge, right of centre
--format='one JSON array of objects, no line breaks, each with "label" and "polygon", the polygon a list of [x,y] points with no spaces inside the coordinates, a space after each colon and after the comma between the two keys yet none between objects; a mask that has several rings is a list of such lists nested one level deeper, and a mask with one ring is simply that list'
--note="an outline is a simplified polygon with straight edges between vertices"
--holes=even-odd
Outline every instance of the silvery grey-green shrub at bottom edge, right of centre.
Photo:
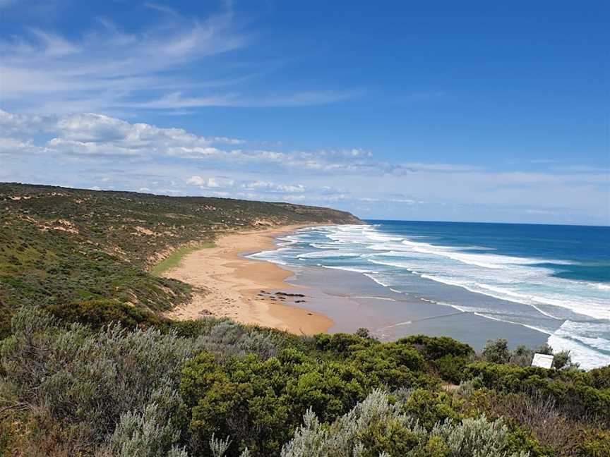
[{"label": "silvery grey-green shrub at bottom edge, right of centre", "polygon": [[427,432],[400,402],[373,391],[328,427],[309,410],[281,456],[527,457],[509,445],[501,420],[445,420]]}]

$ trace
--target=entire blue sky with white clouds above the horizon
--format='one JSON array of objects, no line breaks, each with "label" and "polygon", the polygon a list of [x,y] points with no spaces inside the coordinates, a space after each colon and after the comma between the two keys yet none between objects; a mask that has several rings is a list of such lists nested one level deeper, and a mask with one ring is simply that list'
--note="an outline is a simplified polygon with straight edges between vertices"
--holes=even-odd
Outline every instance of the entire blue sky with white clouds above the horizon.
[{"label": "entire blue sky with white clouds above the horizon", "polygon": [[608,1],[0,0],[0,181],[610,224]]}]

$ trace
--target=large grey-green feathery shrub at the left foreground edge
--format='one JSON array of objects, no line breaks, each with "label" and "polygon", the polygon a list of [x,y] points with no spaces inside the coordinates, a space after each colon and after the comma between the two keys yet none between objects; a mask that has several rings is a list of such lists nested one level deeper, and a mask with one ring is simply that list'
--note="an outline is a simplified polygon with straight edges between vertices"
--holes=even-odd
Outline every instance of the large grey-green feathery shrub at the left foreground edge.
[{"label": "large grey-green feathery shrub at the left foreground edge", "polygon": [[18,401],[46,411],[82,448],[104,441],[124,413],[143,413],[159,389],[177,389],[179,369],[195,351],[197,341],[156,329],[58,327],[40,308],[19,310],[1,344],[4,379]]}]

